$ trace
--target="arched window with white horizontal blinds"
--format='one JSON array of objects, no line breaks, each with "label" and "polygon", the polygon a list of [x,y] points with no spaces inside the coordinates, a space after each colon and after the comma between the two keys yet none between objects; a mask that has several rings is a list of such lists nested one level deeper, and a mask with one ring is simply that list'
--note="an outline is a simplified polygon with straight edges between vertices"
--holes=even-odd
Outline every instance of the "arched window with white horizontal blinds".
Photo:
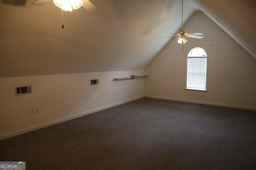
[{"label": "arched window with white horizontal blinds", "polygon": [[196,47],[188,53],[186,89],[206,91],[207,55],[204,49]]}]

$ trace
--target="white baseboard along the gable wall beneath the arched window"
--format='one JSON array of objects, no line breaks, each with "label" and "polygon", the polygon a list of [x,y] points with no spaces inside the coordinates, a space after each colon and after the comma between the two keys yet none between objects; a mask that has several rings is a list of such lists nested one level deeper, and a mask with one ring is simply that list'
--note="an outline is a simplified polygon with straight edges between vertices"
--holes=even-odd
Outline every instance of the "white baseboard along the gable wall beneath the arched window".
[{"label": "white baseboard along the gable wall beneath the arched window", "polygon": [[222,107],[231,107],[236,109],[246,109],[246,110],[256,110],[256,107],[248,107],[248,106],[236,106],[230,104],[220,104],[220,103],[212,103],[212,102],[202,102],[197,100],[185,100],[185,99],[176,99],[176,98],[166,98],[160,96],[144,96],[145,98],[154,98],[154,99],[163,99],[163,100],[173,100],[178,102],[188,102],[188,103],[196,103],[196,104],[206,104],[212,106],[222,106]]}]

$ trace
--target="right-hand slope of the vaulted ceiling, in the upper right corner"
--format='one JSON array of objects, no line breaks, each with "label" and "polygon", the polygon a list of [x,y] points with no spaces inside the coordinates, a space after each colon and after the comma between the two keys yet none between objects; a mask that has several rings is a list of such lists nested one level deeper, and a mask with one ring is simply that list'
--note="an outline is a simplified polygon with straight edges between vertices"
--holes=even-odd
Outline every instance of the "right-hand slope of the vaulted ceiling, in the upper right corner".
[{"label": "right-hand slope of the vaulted ceiling, in the upper right corner", "polygon": [[256,58],[255,0],[194,0],[201,10]]}]

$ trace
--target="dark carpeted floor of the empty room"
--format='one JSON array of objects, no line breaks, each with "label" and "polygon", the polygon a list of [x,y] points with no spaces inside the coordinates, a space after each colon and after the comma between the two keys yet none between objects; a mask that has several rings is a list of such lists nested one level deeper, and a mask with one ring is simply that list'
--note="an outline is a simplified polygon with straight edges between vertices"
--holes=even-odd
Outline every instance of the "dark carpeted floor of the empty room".
[{"label": "dark carpeted floor of the empty room", "polygon": [[27,170],[254,170],[256,111],[142,98],[0,141]]}]

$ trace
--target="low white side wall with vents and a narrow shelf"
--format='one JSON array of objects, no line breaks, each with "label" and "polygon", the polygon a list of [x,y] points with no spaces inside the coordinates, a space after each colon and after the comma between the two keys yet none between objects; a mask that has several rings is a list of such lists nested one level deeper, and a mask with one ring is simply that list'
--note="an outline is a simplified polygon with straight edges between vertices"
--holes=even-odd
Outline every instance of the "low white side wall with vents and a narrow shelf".
[{"label": "low white side wall with vents and a narrow shelf", "polygon": [[[144,70],[0,78],[0,140],[93,113],[144,96]],[[90,79],[99,85],[90,86]],[[32,85],[32,94],[15,96],[15,86]],[[116,95],[118,92],[118,95]],[[38,108],[38,114],[30,109]]]}]

